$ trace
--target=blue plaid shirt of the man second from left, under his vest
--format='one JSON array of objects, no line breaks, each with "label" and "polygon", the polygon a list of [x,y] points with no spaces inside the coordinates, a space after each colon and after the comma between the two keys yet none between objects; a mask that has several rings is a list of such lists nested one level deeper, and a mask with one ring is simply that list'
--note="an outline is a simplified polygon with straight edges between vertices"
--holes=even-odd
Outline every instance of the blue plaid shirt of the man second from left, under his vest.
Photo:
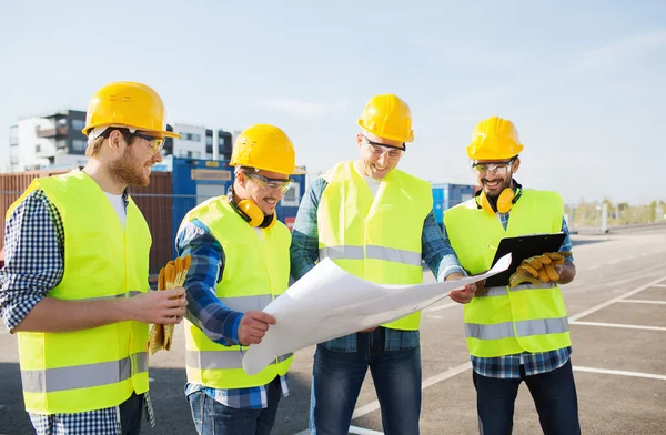
[{"label": "blue plaid shirt of the man second from left, under his vest", "polygon": [[[176,236],[179,255],[190,255],[192,264],[185,279],[188,308],[185,318],[196,325],[211,341],[224,346],[238,345],[239,324],[243,313],[231,311],[216,296],[215,286],[224,272],[224,251],[208,226],[194,220]],[[287,375],[280,378],[282,395],[289,395]],[[212,388],[188,383],[185,396],[203,392],[215,402],[232,408],[261,409],[269,406],[268,385],[250,388]]]}]

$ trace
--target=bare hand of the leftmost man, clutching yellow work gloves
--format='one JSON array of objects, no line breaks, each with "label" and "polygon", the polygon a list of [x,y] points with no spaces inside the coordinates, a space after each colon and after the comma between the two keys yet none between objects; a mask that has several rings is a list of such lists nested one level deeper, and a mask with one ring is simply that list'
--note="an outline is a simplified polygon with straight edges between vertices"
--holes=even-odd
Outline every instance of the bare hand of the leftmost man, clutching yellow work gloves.
[{"label": "bare hand of the leftmost man, clutching yellow work gloves", "polygon": [[183,287],[141,293],[127,301],[130,320],[157,325],[180,323],[188,305]]}]

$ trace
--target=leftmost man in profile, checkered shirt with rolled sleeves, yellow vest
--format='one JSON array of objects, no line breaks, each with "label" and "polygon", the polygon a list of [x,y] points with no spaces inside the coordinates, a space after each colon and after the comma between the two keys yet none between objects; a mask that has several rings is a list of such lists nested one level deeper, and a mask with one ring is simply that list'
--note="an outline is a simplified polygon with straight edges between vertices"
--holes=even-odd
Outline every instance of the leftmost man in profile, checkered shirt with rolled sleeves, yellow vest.
[{"label": "leftmost man in profile, checkered shirt with rolled sleeves, yellow vest", "polygon": [[119,82],[90,100],[83,170],[36,179],[7,213],[0,306],[19,340],[38,434],[138,435],[148,397],[148,324],[180,323],[184,290],[149,292],[150,231],[128,185],[148,185],[165,136],[151,88]]}]

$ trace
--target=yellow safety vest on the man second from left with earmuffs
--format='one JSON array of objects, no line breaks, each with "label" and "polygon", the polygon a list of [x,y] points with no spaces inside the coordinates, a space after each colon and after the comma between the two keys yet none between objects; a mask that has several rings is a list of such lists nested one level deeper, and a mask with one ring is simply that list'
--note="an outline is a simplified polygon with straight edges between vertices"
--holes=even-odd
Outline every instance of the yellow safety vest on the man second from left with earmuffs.
[{"label": "yellow safety vest on the man second from left with earmuffs", "polygon": [[[224,271],[215,291],[233,311],[261,311],[289,286],[291,233],[282,222],[256,230],[231,208],[226,196],[212,198],[191,210],[183,224],[203,222],[224,251]],[[291,366],[293,354],[276,357],[260,373],[243,371],[240,346],[211,341],[185,321],[185,366],[188,382],[213,388],[248,388],[266,385]]]}]

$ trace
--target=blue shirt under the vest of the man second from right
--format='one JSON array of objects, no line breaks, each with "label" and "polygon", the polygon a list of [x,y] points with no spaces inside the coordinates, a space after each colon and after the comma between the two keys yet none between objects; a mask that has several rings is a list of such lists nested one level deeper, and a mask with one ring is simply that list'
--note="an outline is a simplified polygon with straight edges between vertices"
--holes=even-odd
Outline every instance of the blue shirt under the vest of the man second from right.
[{"label": "blue shirt under the vest of the man second from right", "polygon": [[[322,178],[316,179],[299,206],[291,245],[291,275],[296,281],[314,267],[319,261],[316,211],[322,193],[327,185],[326,180]],[[430,266],[438,281],[443,281],[454,272],[465,273],[460,266],[448,240],[444,239],[432,211],[423,222],[421,243],[423,261]],[[323,343],[323,345],[334,352],[356,352],[356,334],[345,335],[340,338],[330,340]],[[418,331],[385,328],[384,348],[386,351],[413,348],[418,345]]]}]

